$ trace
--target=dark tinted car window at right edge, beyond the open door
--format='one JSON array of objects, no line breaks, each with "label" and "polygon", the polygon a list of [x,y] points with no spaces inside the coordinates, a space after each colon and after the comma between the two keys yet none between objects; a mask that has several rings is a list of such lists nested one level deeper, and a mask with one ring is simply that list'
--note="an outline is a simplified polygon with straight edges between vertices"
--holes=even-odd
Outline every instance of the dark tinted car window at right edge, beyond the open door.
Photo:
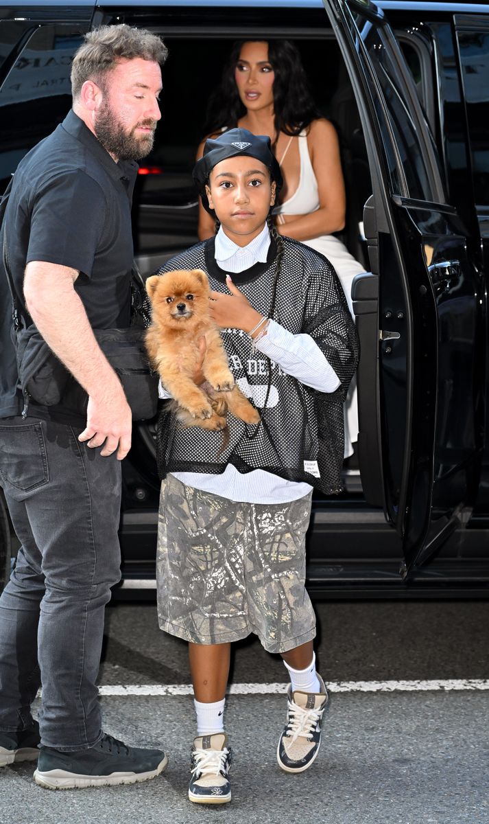
[{"label": "dark tinted car window at right edge, beyond the open door", "polygon": [[489,30],[459,32],[475,202],[489,207]]}]

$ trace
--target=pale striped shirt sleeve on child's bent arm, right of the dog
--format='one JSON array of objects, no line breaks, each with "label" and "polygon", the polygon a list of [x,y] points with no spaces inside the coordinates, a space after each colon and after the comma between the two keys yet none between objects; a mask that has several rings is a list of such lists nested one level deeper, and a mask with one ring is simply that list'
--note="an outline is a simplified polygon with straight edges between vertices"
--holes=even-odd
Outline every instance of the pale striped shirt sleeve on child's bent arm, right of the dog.
[{"label": "pale striped shirt sleeve on child's bent arm, right of the dog", "polygon": [[278,363],[287,375],[319,392],[333,392],[341,381],[310,335],[292,335],[276,321],[255,343],[256,349]]}]

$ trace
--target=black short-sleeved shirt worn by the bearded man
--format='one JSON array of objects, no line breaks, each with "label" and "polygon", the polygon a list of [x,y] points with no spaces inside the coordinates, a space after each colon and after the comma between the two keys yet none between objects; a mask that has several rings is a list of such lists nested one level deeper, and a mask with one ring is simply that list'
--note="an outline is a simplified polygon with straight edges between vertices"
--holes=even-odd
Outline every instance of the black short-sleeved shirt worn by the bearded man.
[{"label": "black short-sleeved shirt worn by the bearded man", "polygon": [[[80,272],[75,290],[94,329],[129,325],[136,176],[137,163],[115,163],[72,110],[21,160],[3,225],[22,303],[26,264],[42,260]],[[6,418],[21,414],[23,399],[11,336],[12,301],[1,263],[0,270],[0,418]],[[56,289],[54,274],[49,285]],[[29,414],[80,421],[72,410],[33,401]]]}]

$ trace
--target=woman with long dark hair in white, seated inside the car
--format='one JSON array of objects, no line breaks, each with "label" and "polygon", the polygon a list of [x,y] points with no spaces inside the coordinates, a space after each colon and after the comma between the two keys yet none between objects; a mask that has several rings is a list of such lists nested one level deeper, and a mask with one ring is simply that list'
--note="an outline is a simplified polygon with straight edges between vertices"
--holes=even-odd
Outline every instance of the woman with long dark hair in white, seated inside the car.
[{"label": "woman with long dark hair in white, seated inside the car", "polygon": [[[240,127],[267,135],[279,162],[284,186],[273,210],[277,232],[321,252],[338,273],[352,310],[352,280],[364,267],[333,232],[345,225],[346,195],[338,135],[319,114],[296,46],[288,40],[245,40],[231,49],[220,86],[209,101],[204,132]],[[203,143],[197,157],[202,157]],[[215,232],[211,216],[200,207],[198,236]],[[345,456],[358,435],[356,386],[345,403]]]}]

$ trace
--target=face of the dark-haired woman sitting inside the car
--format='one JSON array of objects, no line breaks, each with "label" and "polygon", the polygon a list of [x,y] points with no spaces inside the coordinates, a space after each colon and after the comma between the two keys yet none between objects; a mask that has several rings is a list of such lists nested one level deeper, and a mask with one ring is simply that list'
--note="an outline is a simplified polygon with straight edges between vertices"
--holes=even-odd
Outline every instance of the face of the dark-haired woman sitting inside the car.
[{"label": "face of the dark-haired woman sitting inside the car", "polygon": [[268,43],[261,40],[244,43],[235,68],[235,82],[243,105],[254,111],[273,109],[274,78],[268,62]]}]

